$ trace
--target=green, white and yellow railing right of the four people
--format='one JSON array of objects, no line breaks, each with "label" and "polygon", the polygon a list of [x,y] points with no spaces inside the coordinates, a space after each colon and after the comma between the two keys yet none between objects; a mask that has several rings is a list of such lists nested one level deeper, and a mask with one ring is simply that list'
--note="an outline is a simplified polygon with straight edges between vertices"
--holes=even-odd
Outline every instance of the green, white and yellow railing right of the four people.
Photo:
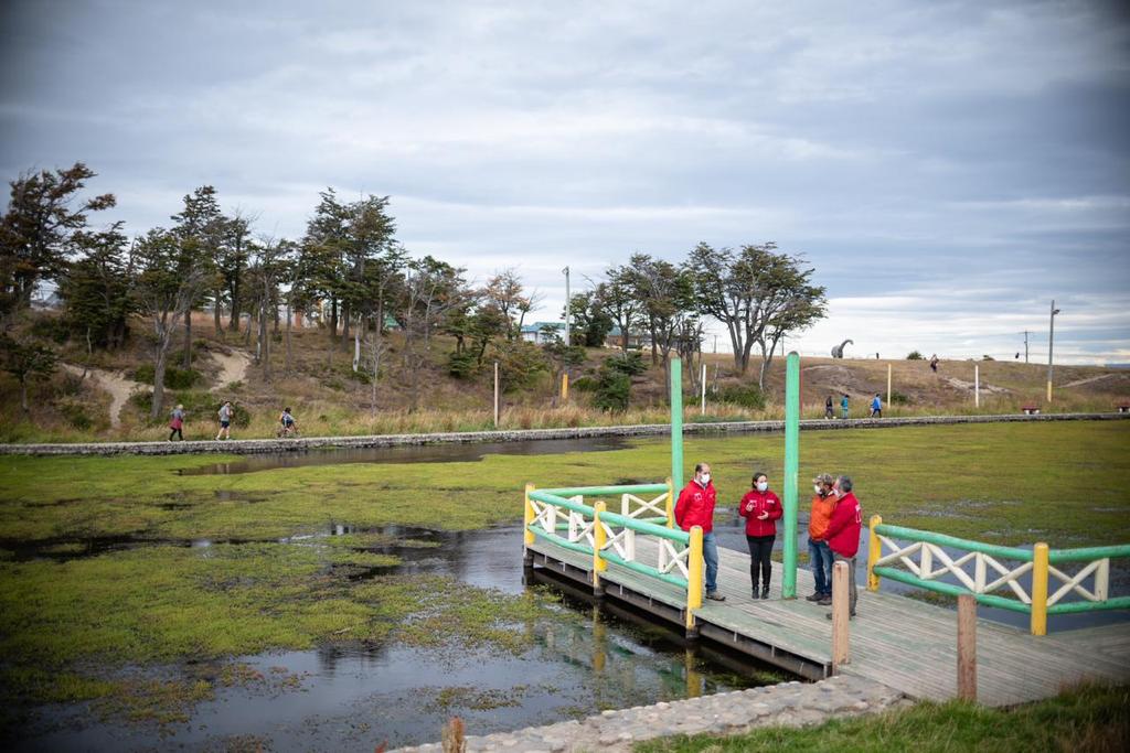
[{"label": "green, white and yellow railing right of the four people", "polygon": [[[895,539],[911,543],[896,544]],[[946,549],[964,553],[955,558]],[[973,594],[986,606],[1029,614],[1032,633],[1043,636],[1048,632],[1049,614],[1130,608],[1130,597],[1110,595],[1111,560],[1119,558],[1130,558],[1130,544],[1052,550],[1045,543],[1037,543],[1027,550],[887,525],[876,515],[871,518],[867,586],[878,590],[879,579],[890,578],[950,596]],[[1067,562],[1087,564],[1075,573],[1054,567]],[[898,569],[898,564],[905,569]],[[965,569],[968,564],[973,567],[972,573]],[[1032,585],[1025,590],[1022,578],[1028,573]],[[957,584],[936,580],[942,576],[954,577]],[[1088,578],[1093,581],[1089,589],[1084,585]],[[1012,596],[997,593],[1006,588]],[[1069,594],[1080,596],[1081,601],[1063,602]]]}]

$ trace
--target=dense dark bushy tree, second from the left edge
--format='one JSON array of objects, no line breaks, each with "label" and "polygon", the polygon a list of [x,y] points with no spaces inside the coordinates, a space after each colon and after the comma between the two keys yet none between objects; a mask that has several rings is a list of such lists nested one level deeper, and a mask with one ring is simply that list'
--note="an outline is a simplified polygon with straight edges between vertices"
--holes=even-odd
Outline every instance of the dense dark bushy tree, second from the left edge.
[{"label": "dense dark bushy tree, second from the left edge", "polygon": [[59,278],[64,321],[71,332],[85,338],[88,352],[94,347],[120,348],[129,317],[137,310],[130,296],[129,240],[121,226],[115,222],[107,230],[76,233],[72,244],[81,255]]}]

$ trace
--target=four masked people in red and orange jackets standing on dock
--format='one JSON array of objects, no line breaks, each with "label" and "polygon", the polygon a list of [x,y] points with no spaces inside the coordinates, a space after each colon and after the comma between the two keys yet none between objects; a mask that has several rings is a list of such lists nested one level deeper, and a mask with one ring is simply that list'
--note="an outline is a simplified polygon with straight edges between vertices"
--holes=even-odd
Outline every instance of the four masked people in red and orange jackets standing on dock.
[{"label": "four masked people in red and orange jackets standing on dock", "polygon": [[[738,515],[746,519],[746,543],[749,546],[749,579],[755,599],[770,597],[773,576],[773,543],[776,522],[784,514],[781,499],[770,490],[770,480],[757,471],[751,488],[738,505]],[[855,616],[855,555],[863,526],[863,511],[853,491],[850,476],[833,478],[822,473],[812,479],[815,496],[808,523],[808,553],[815,588],[807,598],[823,606],[832,604],[832,567],[846,562],[849,569],[849,608]],[[714,505],[718,492],[709,463],[695,465],[695,478],[679,493],[675,505],[675,522],[684,531],[694,526],[703,531],[703,560],[706,564],[706,598],[724,602],[718,590],[718,541],[714,536]],[[828,613],[828,619],[832,613]]]}]

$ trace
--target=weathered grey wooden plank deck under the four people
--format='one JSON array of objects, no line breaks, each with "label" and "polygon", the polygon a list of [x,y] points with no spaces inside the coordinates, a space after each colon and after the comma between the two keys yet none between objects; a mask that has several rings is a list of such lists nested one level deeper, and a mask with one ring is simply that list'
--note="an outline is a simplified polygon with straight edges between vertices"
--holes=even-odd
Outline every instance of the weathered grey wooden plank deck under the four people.
[{"label": "weathered grey wooden plank deck under the four people", "polygon": [[[655,550],[636,539],[641,555]],[[538,539],[534,564],[592,583],[592,558]],[[719,549],[719,589],[725,602],[696,611],[699,636],[731,646],[808,678],[832,672],[832,622],[827,607],[802,597],[812,575],[797,572],[801,598],[781,599],[781,566],[774,563],[768,601],[750,596],[749,555]],[[860,551],[861,560],[866,551]],[[863,567],[861,561],[860,568]],[[606,596],[618,598],[681,628],[686,592],[655,578],[609,564],[601,573]],[[590,586],[591,587],[591,586]],[[859,589],[851,621],[851,658],[844,674],[859,675],[915,699],[948,700],[957,693],[957,613],[895,594]],[[986,620],[977,621],[977,700],[1010,706],[1055,695],[1083,680],[1130,682],[1130,622],[1045,637]]]}]

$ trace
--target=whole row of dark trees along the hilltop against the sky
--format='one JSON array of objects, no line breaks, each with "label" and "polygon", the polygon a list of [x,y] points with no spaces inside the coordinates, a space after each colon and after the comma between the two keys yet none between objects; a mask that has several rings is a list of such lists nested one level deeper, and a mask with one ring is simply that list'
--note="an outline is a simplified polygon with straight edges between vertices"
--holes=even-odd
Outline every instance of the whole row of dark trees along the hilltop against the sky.
[{"label": "whole row of dark trees along the hilltop against the sky", "polygon": [[[328,361],[336,350],[351,350],[353,370],[371,384],[374,411],[392,330],[400,334],[399,366],[415,410],[436,334],[454,342],[446,354],[453,376],[472,378],[488,360],[499,360],[504,388],[514,388],[582,362],[584,348],[603,347],[614,327],[625,353],[650,349],[666,374],[672,353],[701,358],[705,321],[713,317],[727,327],[738,374],[747,373],[758,348],[764,387],[782,338],[825,310],[825,290],[812,283],[802,257],[773,243],[732,249],[699,244],[680,263],[637,253],[609,268],[570,301],[572,342],[555,331],[539,347],[521,333],[541,297],[514,270],[476,286],[464,268],[410,254],[395,237],[389,196],[347,201],[327,189],[305,234],[289,239],[257,234],[254,216],[225,212],[216,189],[205,185],[183,198],[167,226],[130,237],[122,222],[97,228],[92,221],[116,203],[110,193],[84,198],[93,177],[77,163],[10,182],[0,218],[0,357],[21,385],[25,410],[27,382],[50,374],[55,354],[16,325],[33,294],[50,286],[62,301],[67,334],[88,352],[121,348],[131,322],[146,323],[154,343],[154,418],[169,366],[180,358],[191,368],[197,310],[211,312],[217,334],[241,333],[246,317],[243,342],[254,348],[267,380],[275,342],[284,348],[284,369],[292,369],[294,314],[316,316]],[[179,333],[183,349],[176,353]],[[695,369],[690,374],[697,379]]]}]

